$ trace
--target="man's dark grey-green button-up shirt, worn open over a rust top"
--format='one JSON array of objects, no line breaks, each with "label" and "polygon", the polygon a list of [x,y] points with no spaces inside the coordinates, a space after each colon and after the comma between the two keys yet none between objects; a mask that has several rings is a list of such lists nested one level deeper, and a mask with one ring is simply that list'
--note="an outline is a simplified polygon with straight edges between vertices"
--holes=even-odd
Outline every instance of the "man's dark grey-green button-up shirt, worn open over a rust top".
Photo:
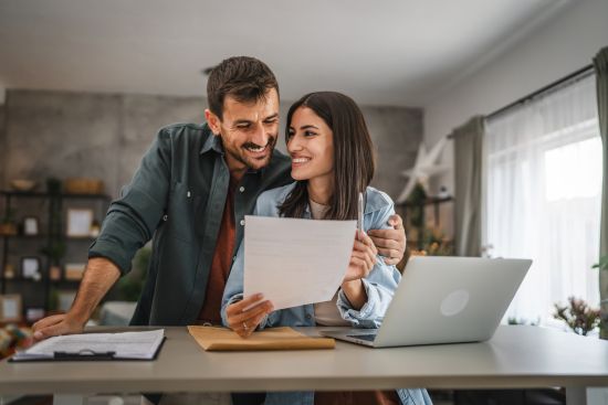
[{"label": "man's dark grey-green button-up shirt, worn open over a rust top", "polygon": [[[291,160],[274,151],[268,167],[249,171],[234,195],[235,248],[244,215],[264,190],[293,181]],[[150,238],[153,256],[132,324],[180,326],[197,320],[221,223],[230,172],[219,137],[207,125],[158,131],[130,184],[108,209],[88,257],[105,257],[124,275]],[[234,253],[233,253],[234,256]]]}]

